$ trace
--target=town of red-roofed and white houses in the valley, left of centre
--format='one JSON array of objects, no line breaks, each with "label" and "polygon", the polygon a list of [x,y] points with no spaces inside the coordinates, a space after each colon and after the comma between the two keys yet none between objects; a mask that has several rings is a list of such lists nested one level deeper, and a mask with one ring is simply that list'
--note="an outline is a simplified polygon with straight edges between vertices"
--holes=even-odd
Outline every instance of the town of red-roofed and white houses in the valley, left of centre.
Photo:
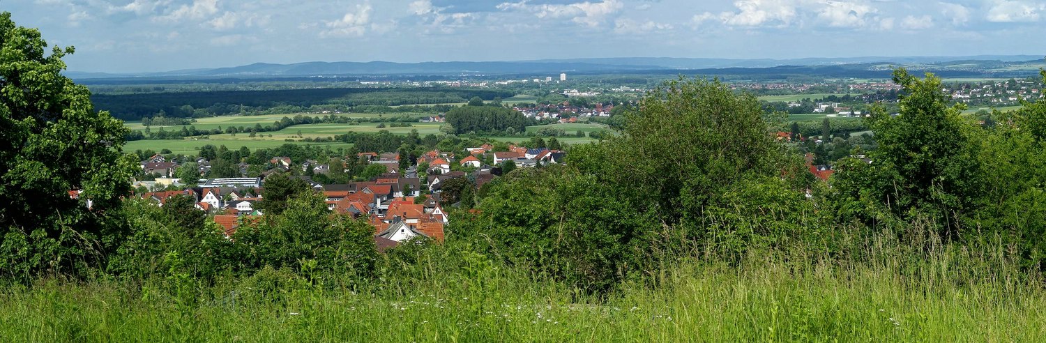
[{"label": "town of red-roofed and white houses in the valley, left of centre", "polygon": [[[445,207],[457,206],[461,200],[461,185],[478,190],[510,168],[561,164],[566,158],[563,151],[547,147],[509,144],[506,151],[495,152],[494,148],[492,144],[468,147],[468,156],[430,151],[404,169],[400,168],[400,154],[358,153],[355,158],[359,162],[381,166],[384,173],[366,181],[343,184],[321,184],[310,178],[329,174],[332,168],[339,166],[315,160],[294,161],[286,156],[272,158],[260,177],[185,180],[175,177],[184,162],[191,161],[199,176],[205,177],[211,169],[210,161],[203,157],[179,161],[174,156],[168,159],[156,154],[140,163],[142,173],[151,175],[153,180],[136,181],[133,186],[139,189],[137,197],[161,207],[170,197],[191,198],[196,208],[222,225],[225,234],[231,237],[244,221],[265,215],[256,207],[266,192],[266,180],[276,175],[290,177],[321,192],[334,213],[362,219],[373,226],[376,245],[384,250],[415,237],[442,242],[444,227],[449,223]],[[246,174],[250,165],[240,163],[237,167]],[[346,172],[345,165],[340,167],[341,173]],[[445,189],[451,189],[447,186],[450,184],[457,187],[448,198]],[[77,193],[70,195],[75,198]]]}]

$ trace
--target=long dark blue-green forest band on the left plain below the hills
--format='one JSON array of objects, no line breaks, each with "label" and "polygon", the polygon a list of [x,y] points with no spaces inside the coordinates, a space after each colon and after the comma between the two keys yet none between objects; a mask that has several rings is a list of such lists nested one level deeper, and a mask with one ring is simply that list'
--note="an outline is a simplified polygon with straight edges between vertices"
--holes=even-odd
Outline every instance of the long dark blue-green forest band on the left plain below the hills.
[{"label": "long dark blue-green forest band on the left plain below the hills", "polygon": [[[278,114],[320,111],[369,112],[374,106],[465,102],[472,97],[492,100],[515,94],[452,88],[318,88],[258,91],[94,94],[91,101],[122,120],[145,117],[209,117],[228,114]],[[405,109],[406,110],[406,109]],[[417,110],[417,108],[414,108]],[[429,109],[433,110],[433,109]]]}]

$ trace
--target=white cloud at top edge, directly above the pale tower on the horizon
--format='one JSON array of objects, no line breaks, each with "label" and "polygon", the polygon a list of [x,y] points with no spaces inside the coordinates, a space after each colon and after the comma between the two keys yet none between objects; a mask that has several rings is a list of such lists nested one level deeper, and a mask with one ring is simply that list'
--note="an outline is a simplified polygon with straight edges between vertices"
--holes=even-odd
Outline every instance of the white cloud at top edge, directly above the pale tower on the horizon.
[{"label": "white cloud at top edge, directly above the pale tower on the horizon", "polygon": [[523,0],[520,2],[501,3],[497,8],[501,10],[527,12],[540,19],[570,19],[570,21],[577,24],[597,27],[606,21],[607,17],[624,8],[624,4],[619,0],[585,1],[568,4],[530,4],[527,0]]}]

